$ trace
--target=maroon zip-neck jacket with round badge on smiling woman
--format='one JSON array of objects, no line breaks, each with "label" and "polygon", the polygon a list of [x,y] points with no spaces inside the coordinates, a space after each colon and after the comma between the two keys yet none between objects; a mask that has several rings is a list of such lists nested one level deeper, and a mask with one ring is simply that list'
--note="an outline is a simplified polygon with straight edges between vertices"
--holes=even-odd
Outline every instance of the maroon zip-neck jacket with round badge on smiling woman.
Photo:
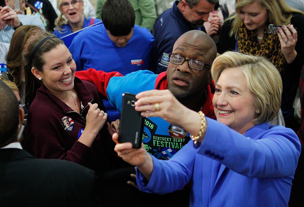
[{"label": "maroon zip-neck jacket with round badge on smiling woman", "polygon": [[[63,159],[72,161],[99,172],[109,168],[109,159],[115,156],[114,142],[106,129],[106,124],[95,138],[92,147],[78,141],[81,130],[85,128],[88,102],[97,103],[105,111],[99,100],[96,87],[77,77],[74,87],[84,108],[81,113],[74,112],[64,102],[52,95],[42,85],[29,107],[26,137],[23,148],[37,158]],[[70,127],[63,124],[63,119],[70,118]],[[112,164],[112,163],[111,163]]]}]

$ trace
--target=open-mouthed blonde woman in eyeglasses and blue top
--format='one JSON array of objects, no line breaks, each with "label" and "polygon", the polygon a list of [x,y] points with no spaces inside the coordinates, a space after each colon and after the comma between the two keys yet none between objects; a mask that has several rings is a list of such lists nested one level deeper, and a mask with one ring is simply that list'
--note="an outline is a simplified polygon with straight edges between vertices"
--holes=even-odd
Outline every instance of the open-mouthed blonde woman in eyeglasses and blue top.
[{"label": "open-mouthed blonde woman in eyeglasses and blue top", "polygon": [[85,17],[83,6],[84,3],[82,0],[57,0],[57,8],[61,14],[55,20],[56,27],[54,28],[54,35],[60,38],[97,22],[101,22],[100,19]]}]

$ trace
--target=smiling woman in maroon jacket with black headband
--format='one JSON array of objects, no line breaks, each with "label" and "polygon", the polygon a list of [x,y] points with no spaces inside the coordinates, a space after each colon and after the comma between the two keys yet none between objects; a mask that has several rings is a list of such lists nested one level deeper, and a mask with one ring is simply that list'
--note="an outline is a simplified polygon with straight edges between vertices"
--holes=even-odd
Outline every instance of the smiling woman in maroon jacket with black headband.
[{"label": "smiling woman in maroon jacket with black headband", "polygon": [[73,161],[97,174],[110,170],[114,144],[96,87],[75,77],[62,40],[43,31],[29,36],[23,50],[29,108],[23,147],[38,158]]}]

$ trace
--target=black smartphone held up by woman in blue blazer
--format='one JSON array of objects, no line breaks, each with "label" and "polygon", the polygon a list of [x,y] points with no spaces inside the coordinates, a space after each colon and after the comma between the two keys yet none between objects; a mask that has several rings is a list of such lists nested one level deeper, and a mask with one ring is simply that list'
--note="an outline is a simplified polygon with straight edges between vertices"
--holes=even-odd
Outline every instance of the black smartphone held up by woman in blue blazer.
[{"label": "black smartphone held up by woman in blue blazer", "polygon": [[143,133],[143,117],[135,110],[137,99],[134,94],[124,93],[122,111],[120,115],[119,138],[120,143],[131,142],[133,148],[140,148]]}]

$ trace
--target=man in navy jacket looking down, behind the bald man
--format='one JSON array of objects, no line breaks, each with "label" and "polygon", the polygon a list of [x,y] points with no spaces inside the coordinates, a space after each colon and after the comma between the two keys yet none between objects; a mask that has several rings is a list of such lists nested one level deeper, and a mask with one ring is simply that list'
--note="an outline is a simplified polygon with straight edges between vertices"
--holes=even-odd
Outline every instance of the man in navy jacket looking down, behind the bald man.
[{"label": "man in navy jacket looking down, behind the bald man", "polygon": [[[185,32],[199,29],[206,32],[204,22],[218,0],[175,1],[172,8],[162,13],[154,25],[154,56],[156,73],[167,70],[169,53],[175,41]],[[220,22],[219,22],[220,23]]]}]

